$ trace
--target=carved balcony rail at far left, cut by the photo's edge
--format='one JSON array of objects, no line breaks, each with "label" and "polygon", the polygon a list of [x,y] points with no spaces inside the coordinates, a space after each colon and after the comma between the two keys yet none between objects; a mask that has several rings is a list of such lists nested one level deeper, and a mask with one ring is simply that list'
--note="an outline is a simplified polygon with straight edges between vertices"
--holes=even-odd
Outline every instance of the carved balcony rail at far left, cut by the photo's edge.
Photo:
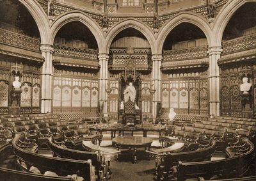
[{"label": "carved balcony rail at far left, cut by the photo's edge", "polygon": [[30,36],[8,31],[0,28],[0,42],[19,47],[22,49],[28,49],[29,51],[40,52],[40,40],[39,38],[31,38]]}]

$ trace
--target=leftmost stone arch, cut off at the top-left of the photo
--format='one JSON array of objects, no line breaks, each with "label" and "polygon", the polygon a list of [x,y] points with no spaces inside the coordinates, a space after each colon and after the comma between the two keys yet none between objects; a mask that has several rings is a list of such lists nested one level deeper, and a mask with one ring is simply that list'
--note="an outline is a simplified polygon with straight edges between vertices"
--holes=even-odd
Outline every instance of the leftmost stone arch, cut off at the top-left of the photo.
[{"label": "leftmost stone arch, cut off at the top-left of the photo", "polygon": [[40,6],[36,1],[33,0],[19,0],[20,3],[22,3],[28,10],[28,12],[31,14],[33,19],[35,20],[42,44],[49,44],[49,30],[50,30],[50,22],[49,19]]}]

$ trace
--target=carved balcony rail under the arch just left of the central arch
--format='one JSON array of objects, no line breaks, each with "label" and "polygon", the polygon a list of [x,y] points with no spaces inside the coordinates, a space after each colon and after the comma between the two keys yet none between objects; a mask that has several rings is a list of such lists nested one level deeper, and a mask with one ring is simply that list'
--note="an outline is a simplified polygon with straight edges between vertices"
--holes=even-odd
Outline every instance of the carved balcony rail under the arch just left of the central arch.
[{"label": "carved balcony rail under the arch just left of the central arch", "polygon": [[98,52],[93,49],[77,48],[77,47],[66,47],[55,45],[54,52],[58,56],[68,56],[72,58],[86,59],[90,61],[98,60]]}]

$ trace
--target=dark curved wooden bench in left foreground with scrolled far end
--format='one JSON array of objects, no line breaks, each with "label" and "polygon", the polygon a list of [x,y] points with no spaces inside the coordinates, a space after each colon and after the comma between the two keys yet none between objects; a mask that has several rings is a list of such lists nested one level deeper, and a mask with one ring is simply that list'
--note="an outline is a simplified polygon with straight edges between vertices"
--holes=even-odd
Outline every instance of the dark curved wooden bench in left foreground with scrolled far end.
[{"label": "dark curved wooden bench in left foreground with scrolled far end", "polygon": [[78,175],[84,180],[93,180],[92,161],[76,161],[72,159],[62,159],[56,157],[47,157],[36,153],[37,145],[33,139],[26,138],[26,134],[16,136],[12,141],[13,152],[17,161],[24,171],[31,171],[32,167],[37,168],[40,173],[52,171],[60,176]]}]

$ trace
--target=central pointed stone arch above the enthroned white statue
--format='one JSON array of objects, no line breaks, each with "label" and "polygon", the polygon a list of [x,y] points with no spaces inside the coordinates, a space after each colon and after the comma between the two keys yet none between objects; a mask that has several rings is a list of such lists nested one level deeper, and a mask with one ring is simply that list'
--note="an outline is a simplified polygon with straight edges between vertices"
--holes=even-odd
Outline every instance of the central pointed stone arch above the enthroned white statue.
[{"label": "central pointed stone arch above the enthroned white statue", "polygon": [[157,53],[156,52],[156,45],[157,45],[156,38],[154,36],[154,32],[152,31],[152,29],[150,29],[147,26],[147,24],[145,24],[144,22],[141,22],[140,20],[132,19],[132,18],[122,20],[121,22],[118,22],[118,24],[116,24],[115,26],[113,26],[109,29],[109,32],[106,36],[106,47],[105,47],[106,52],[109,52],[110,45],[111,45],[113,39],[115,38],[115,36],[127,28],[134,28],[134,29],[140,31],[147,38],[147,40],[150,44],[150,47],[151,47],[152,54]]}]

